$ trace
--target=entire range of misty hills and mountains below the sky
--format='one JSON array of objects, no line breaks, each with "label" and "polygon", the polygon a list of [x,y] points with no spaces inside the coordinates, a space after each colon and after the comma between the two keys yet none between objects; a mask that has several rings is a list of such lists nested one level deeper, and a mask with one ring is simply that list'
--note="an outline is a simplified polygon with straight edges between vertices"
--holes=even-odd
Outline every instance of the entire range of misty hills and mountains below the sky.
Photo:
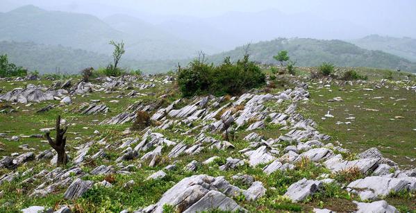
[{"label": "entire range of misty hills and mountains below the sky", "polygon": [[[267,24],[262,21],[265,19],[276,19],[278,24]],[[308,20],[308,23],[319,22],[324,20]],[[291,28],[283,27],[290,23],[297,24]],[[338,25],[340,27],[331,28],[332,33],[342,33],[349,26],[348,23]],[[210,55],[208,59],[212,62],[221,62],[225,56],[235,60],[241,58],[244,51],[241,46],[233,48],[247,43],[251,37],[267,40],[273,35],[302,36],[313,29],[296,16],[278,10],[229,12],[222,17],[194,20],[184,17],[149,24],[128,15],[99,19],[92,15],[24,6],[0,12],[0,54],[7,53],[17,65],[32,70],[51,72],[59,67],[61,71],[75,73],[85,67],[108,65],[113,51],[108,42],[124,40],[126,56],[122,58],[122,66],[155,73],[174,69],[178,62],[188,63],[199,50]],[[326,34],[325,31],[315,33]],[[276,63],[272,56],[288,50],[292,60],[301,66],[333,62],[342,67],[400,68],[416,72],[415,44],[414,39],[407,37],[378,35],[348,42],[279,38],[253,41],[250,53],[252,60],[264,63]],[[226,51],[229,49],[233,50]]]}]

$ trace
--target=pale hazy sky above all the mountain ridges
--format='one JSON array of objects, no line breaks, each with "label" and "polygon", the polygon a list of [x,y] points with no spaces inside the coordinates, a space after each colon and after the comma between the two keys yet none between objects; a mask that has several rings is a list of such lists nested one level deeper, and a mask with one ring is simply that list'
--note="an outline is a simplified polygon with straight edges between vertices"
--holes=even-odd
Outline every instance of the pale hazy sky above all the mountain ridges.
[{"label": "pale hazy sky above all the mountain ridges", "polygon": [[416,37],[415,0],[0,0],[0,11],[26,4],[49,10],[90,13],[101,18],[125,13],[153,24],[164,22],[173,15],[176,18],[215,17],[227,12],[277,9],[299,17],[309,14],[339,19],[374,33]]}]

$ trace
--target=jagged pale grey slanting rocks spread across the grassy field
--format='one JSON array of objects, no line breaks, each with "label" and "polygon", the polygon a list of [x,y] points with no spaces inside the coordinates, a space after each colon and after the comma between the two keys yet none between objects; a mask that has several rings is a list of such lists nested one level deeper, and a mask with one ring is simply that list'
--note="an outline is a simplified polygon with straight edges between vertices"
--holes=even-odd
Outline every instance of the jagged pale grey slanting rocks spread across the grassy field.
[{"label": "jagged pale grey slanting rocks spread across the grassy field", "polygon": [[[118,88],[133,90],[128,96],[136,96],[138,92],[134,89],[145,90],[155,87],[156,83],[171,83],[173,78],[166,77],[161,81],[150,80],[151,83],[136,83],[138,77],[122,76],[118,78],[103,78],[102,85],[78,82],[56,83],[49,90],[42,87],[28,85],[26,89],[16,89],[0,96],[1,100],[26,103],[28,101],[47,101],[60,99],[65,94],[86,95],[94,91],[112,92]],[[311,119],[306,119],[297,112],[297,102],[307,101],[309,98],[308,85],[299,83],[294,89],[285,90],[279,94],[253,94],[246,93],[241,96],[203,96],[195,97],[189,102],[179,99],[160,108],[160,104],[155,101],[144,103],[138,101],[129,105],[126,112],[117,114],[115,117],[102,121],[101,124],[123,124],[131,122],[137,116],[139,110],[152,114],[151,120],[160,124],[142,131],[140,136],[128,135],[128,137],[117,142],[107,144],[105,138],[99,142],[88,142],[78,147],[71,147],[76,150],[68,153],[72,158],[73,167],[69,169],[56,168],[49,171],[44,169],[32,176],[31,169],[25,173],[12,171],[0,177],[0,185],[4,181],[12,181],[18,177],[28,177],[22,182],[31,184],[41,182],[30,192],[32,197],[47,196],[56,193],[60,189],[65,189],[64,198],[73,200],[82,196],[85,191],[94,185],[101,187],[112,187],[113,185],[103,180],[94,182],[85,180],[85,176],[108,176],[113,173],[131,174],[136,167],[146,164],[148,167],[156,167],[162,156],[167,156],[169,160],[180,160],[181,156],[197,156],[206,149],[217,149],[233,152],[233,157],[226,160],[212,156],[205,161],[198,162],[192,160],[181,168],[185,174],[194,174],[201,167],[201,164],[208,167],[218,167],[221,171],[236,171],[239,167],[259,167],[267,175],[278,171],[290,171],[296,169],[298,162],[308,159],[319,167],[326,167],[328,172],[336,174],[350,169],[358,169],[365,177],[347,184],[344,189],[357,194],[363,201],[374,201],[373,203],[356,202],[358,212],[397,212],[385,201],[378,201],[390,192],[416,191],[416,171],[401,171],[397,164],[384,158],[376,148],[371,148],[357,155],[354,160],[346,160],[338,152],[346,152],[340,146],[324,144],[330,137],[319,133],[317,124]],[[124,95],[124,94],[122,94]],[[121,97],[117,96],[117,97]],[[63,103],[70,103],[61,101]],[[340,99],[333,99],[340,101]],[[104,104],[85,103],[76,110],[81,114],[107,113],[108,107]],[[270,104],[281,105],[283,102],[290,103],[279,112]],[[184,105],[184,106],[183,106]],[[39,112],[47,112],[55,105],[47,105]],[[278,126],[284,134],[277,138],[265,138],[254,130],[266,128],[269,125]],[[187,130],[176,127],[186,126]],[[165,135],[158,133],[160,130],[172,128],[172,133],[182,135],[192,135],[192,139],[177,141],[174,138],[168,139]],[[232,142],[233,134],[236,132],[247,132],[244,137],[246,147],[238,148]],[[196,133],[195,133],[196,132]],[[210,136],[212,133],[225,135],[223,139],[216,139]],[[90,153],[94,150],[93,145],[99,146],[99,151]],[[24,146],[24,148],[27,148]],[[114,149],[117,152],[115,164],[108,162],[109,165],[101,164],[95,166],[91,171],[83,171],[83,164],[89,160],[97,160],[106,156],[106,150]],[[47,150],[35,155],[33,152],[16,155],[15,157],[3,157],[0,160],[0,168],[15,169],[19,165],[31,160],[51,160],[56,162],[56,155],[53,151]],[[214,163],[215,162],[215,163]],[[176,170],[176,162],[169,166],[152,173],[144,181],[160,180],[169,175],[169,172]],[[392,172],[392,170],[395,170]],[[260,171],[260,172],[261,172]],[[324,189],[326,183],[335,182],[328,178],[329,174],[322,174],[317,180],[307,180],[303,178],[292,183],[285,192],[293,202],[304,201],[309,196],[313,196],[317,191]],[[241,189],[231,185],[224,177],[212,177],[208,175],[194,175],[183,178],[167,190],[160,200],[154,205],[149,205],[136,212],[163,212],[165,205],[171,205],[178,212],[202,212],[206,210],[218,209],[223,211],[247,212],[235,200],[239,196],[244,196],[247,201],[256,201],[265,196],[266,189],[263,183],[256,181],[256,178],[244,173],[238,173],[232,177],[233,180],[242,182],[247,188]],[[36,181],[41,180],[41,181]],[[125,183],[124,187],[135,185],[133,180]],[[23,211],[46,210],[44,207],[29,207]],[[331,212],[331,210],[315,209],[315,212]]]}]

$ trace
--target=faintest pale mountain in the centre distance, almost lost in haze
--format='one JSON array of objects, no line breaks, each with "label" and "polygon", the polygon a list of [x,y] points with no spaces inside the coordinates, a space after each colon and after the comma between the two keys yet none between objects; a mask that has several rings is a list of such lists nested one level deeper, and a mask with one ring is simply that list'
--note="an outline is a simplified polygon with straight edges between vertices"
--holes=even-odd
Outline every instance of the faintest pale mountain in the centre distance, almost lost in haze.
[{"label": "faintest pale mountain in the centre distance, almost lost in haze", "polygon": [[[307,22],[306,22],[307,20]],[[351,37],[351,29],[360,36],[369,31],[342,19],[325,19],[303,12],[286,14],[277,9],[260,12],[227,12],[208,18],[174,17],[157,25],[177,37],[215,46],[222,51],[247,42],[272,40],[276,37]],[[325,26],[325,27],[322,27]]]}]

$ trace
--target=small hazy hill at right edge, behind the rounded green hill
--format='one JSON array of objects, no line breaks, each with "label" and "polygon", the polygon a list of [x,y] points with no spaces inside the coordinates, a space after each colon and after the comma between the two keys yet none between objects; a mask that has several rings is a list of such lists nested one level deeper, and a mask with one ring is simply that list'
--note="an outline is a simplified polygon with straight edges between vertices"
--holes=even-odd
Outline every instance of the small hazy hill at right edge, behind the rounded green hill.
[{"label": "small hazy hill at right edge, behind the rounded green hill", "polygon": [[349,42],[364,49],[385,51],[416,62],[416,40],[410,37],[369,35]]}]

